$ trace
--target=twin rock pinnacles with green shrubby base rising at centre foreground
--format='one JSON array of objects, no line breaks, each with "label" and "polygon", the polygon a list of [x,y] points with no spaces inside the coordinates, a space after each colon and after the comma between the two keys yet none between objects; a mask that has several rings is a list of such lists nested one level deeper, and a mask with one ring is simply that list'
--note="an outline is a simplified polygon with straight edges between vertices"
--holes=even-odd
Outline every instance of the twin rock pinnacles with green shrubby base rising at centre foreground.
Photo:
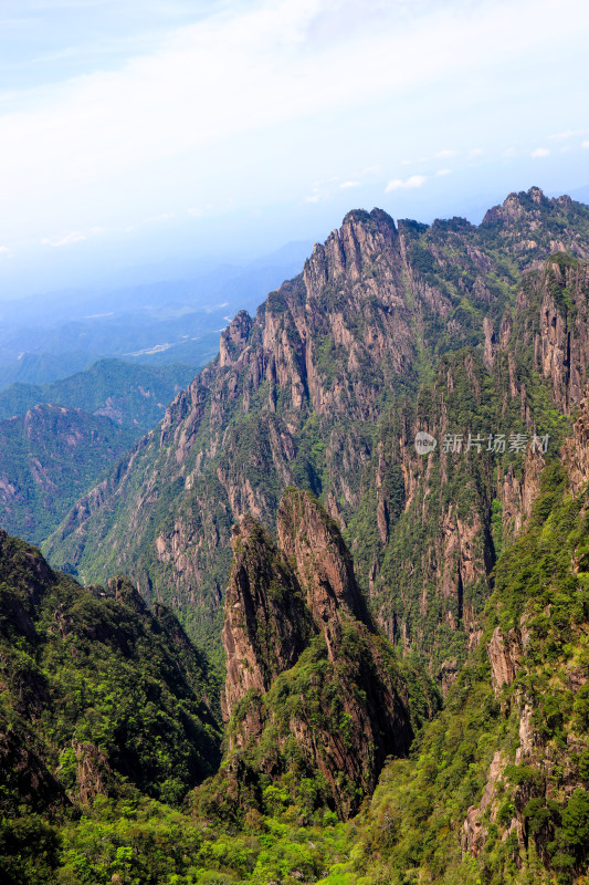
[{"label": "twin rock pinnacles with green shrubby base rising at centre foreground", "polygon": [[334,521],[308,492],[293,490],[278,527],[278,549],[250,517],[234,533],[222,772],[242,796],[260,773],[318,777],[322,800],[347,818],[386,757],[409,749],[407,688],[392,650],[361,620],[361,593]]}]

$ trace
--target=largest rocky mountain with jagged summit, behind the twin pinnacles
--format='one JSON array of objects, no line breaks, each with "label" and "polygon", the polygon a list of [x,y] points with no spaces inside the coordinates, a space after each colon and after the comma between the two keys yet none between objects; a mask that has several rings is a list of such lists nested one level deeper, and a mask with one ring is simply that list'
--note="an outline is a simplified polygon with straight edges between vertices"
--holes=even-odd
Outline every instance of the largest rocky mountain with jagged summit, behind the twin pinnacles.
[{"label": "largest rocky mountain with jagged summit, behind the twin pinnacles", "polygon": [[[449,684],[535,482],[511,435],[556,445],[579,397],[588,257],[589,208],[538,188],[478,227],[348,214],[255,317],[234,317],[218,358],[71,511],[48,555],[85,580],[129,573],[220,649],[231,525],[251,512],[272,531],[284,489],[309,488],[389,638],[425,649]],[[431,468],[412,444],[422,429],[440,436]],[[444,436],[471,430],[483,457],[449,458]],[[505,452],[487,452],[502,430]]]}]

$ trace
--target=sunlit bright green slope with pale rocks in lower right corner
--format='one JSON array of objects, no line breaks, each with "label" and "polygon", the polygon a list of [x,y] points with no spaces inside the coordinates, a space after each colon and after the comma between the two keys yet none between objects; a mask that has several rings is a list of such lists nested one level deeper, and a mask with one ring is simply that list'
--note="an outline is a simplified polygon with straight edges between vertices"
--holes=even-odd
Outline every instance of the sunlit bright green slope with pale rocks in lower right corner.
[{"label": "sunlit bright green slope with pale rocks in lower right corner", "polygon": [[383,774],[355,862],[324,882],[583,883],[589,860],[588,417],[495,571],[482,641],[410,763]]}]

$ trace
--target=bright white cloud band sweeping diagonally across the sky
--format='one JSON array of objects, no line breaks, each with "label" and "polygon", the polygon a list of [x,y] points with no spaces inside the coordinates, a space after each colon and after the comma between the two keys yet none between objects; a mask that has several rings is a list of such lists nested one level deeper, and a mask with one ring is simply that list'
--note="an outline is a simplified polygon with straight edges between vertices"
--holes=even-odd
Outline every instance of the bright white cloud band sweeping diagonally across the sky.
[{"label": "bright white cloud band sweeping diagonally across the sky", "polygon": [[[586,15],[585,3],[562,0],[558,17],[554,0],[416,0],[412,4],[367,0],[361,8],[357,0],[196,3],[201,20],[154,38],[154,43],[159,42],[149,54],[61,83],[48,81],[29,91],[1,93],[0,194],[7,205],[19,207],[21,227],[35,219],[38,237],[41,223],[48,223],[49,207],[61,214],[52,221],[57,229],[86,230],[96,217],[104,218],[109,228],[120,228],[129,215],[143,218],[150,206],[161,205],[156,197],[168,192],[170,183],[177,187],[177,201],[164,205],[185,215],[186,180],[181,188],[187,169],[206,168],[202,178],[210,180],[208,190],[203,184],[202,190],[188,191],[192,194],[188,200],[212,199],[213,194],[217,200],[218,191],[227,187],[242,206],[251,205],[255,191],[256,198],[278,202],[288,187],[291,199],[324,174],[329,156],[340,150],[348,150],[345,162],[350,163],[344,169],[362,164],[360,148],[354,153],[362,127],[358,126],[357,135],[349,123],[356,113],[367,113],[372,103],[376,107],[385,101],[393,123],[380,127],[382,134],[375,144],[360,146],[364,156],[370,162],[382,163],[386,156],[390,163],[398,162],[390,148],[386,153],[396,137],[393,126],[396,150],[403,156],[431,155],[434,145],[461,145],[465,137],[482,137],[475,134],[476,127],[481,129],[476,114],[473,134],[465,136],[457,127],[464,129],[471,121],[456,119],[454,125],[450,113],[452,96],[460,98],[466,83],[477,84],[485,132],[511,119],[504,98],[514,85],[514,64],[529,70],[518,87],[525,90],[532,77],[532,82],[537,79],[536,93],[546,101],[543,86],[550,81],[549,73],[543,73],[546,65],[540,66],[544,48],[558,48],[554,63],[565,77],[567,55],[572,59],[581,39],[575,22]],[[334,71],[338,72],[337,88]],[[567,101],[575,98],[572,86],[581,88],[572,84]],[[446,101],[449,113],[442,114]],[[327,124],[322,123],[325,108],[329,108],[333,142]],[[529,112],[535,110],[536,105]],[[438,122],[442,116],[443,124]],[[438,133],[433,122],[430,125],[434,145],[411,137],[414,121],[430,119],[439,126]],[[341,140],[346,123],[349,146]],[[299,149],[301,133],[318,129],[313,152]],[[276,133],[276,142],[283,137],[284,145],[292,145],[291,154],[281,154],[280,170],[266,168],[270,149],[265,147]],[[306,157],[307,153],[313,157]],[[288,167],[293,176],[284,175]],[[264,194],[259,192],[261,184]],[[282,192],[277,192],[280,187]],[[67,205],[61,199],[64,194]],[[45,207],[42,220],[40,207]],[[102,212],[104,207],[109,216]],[[86,211],[87,217],[83,216]],[[6,235],[0,228],[0,237],[15,236],[13,217],[10,223]]]}]

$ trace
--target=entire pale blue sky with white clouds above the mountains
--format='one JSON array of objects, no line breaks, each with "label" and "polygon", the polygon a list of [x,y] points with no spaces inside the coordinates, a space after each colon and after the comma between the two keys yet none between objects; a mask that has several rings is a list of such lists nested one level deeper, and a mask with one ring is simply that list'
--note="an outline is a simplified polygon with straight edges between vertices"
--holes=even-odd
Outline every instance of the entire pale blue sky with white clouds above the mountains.
[{"label": "entire pale blue sky with white clouds above the mountains", "polygon": [[588,41],[586,0],[0,0],[0,298],[582,188]]}]

